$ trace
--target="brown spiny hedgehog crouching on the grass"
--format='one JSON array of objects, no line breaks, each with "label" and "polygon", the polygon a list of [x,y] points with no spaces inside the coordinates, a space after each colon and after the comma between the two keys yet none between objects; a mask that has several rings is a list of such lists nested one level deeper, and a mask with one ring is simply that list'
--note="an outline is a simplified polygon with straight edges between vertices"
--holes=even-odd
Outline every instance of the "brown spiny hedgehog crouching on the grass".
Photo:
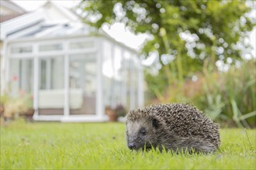
[{"label": "brown spiny hedgehog crouching on the grass", "polygon": [[189,104],[154,104],[126,114],[130,150],[212,153],[220,146],[219,124]]}]

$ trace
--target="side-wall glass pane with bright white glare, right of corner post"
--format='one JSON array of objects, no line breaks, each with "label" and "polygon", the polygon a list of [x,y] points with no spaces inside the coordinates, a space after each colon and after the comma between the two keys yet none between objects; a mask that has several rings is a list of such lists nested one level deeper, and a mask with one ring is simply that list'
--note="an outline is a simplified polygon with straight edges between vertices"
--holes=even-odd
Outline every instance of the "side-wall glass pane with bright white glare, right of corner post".
[{"label": "side-wall glass pane with bright white glare, right of corner post", "polygon": [[126,108],[126,75],[125,60],[122,48],[103,42],[103,100],[105,109],[118,106]]}]

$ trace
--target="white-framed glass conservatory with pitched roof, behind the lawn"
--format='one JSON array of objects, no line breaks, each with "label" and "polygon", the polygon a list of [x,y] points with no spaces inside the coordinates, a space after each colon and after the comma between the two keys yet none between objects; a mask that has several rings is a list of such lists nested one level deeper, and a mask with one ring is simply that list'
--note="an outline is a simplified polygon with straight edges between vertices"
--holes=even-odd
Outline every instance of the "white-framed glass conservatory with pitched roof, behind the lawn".
[{"label": "white-framed glass conservatory with pitched roof, behind the lawn", "polygon": [[[36,121],[107,121],[106,107],[142,107],[144,77],[137,51],[105,33],[92,36],[77,21],[47,20],[47,12],[65,14],[58,8],[47,2],[3,22],[2,87],[12,96],[19,90],[33,94]],[[12,30],[17,24],[19,29]]]}]

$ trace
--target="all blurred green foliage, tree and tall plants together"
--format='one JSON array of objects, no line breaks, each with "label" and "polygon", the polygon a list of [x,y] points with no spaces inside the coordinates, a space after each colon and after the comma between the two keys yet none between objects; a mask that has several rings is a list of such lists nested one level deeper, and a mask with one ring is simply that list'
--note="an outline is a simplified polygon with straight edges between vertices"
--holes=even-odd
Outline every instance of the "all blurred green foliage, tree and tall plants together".
[{"label": "all blurred green foliage, tree and tall plants together", "polygon": [[[195,104],[216,121],[256,125],[255,63],[245,62],[240,69],[234,66],[245,54],[252,56],[244,39],[256,26],[255,18],[247,15],[253,2],[94,0],[81,2],[80,8],[87,22],[98,16],[88,22],[97,28],[123,22],[135,33],[154,37],[142,52],[159,54],[157,76],[148,71],[151,68],[145,71],[150,97]],[[218,72],[216,61],[229,63],[229,59],[230,70]],[[199,76],[195,83],[189,81],[194,75]]]}]

